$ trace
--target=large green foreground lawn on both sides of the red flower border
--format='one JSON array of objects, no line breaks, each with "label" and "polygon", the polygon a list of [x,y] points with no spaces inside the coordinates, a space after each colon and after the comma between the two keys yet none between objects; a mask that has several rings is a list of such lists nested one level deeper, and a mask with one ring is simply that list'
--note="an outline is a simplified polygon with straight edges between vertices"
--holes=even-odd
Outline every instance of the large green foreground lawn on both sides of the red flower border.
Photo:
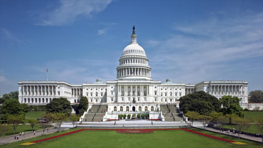
[{"label": "large green foreground lawn on both sides of the red flower border", "polygon": [[[151,134],[120,134],[115,131],[82,131],[72,135],[67,135],[65,137],[56,138],[53,140],[45,141],[39,144],[33,144],[31,146],[20,146],[19,144],[40,140],[43,138],[48,138],[55,135],[60,135],[66,132],[71,132],[77,129],[70,129],[60,133],[53,133],[46,135],[44,137],[36,137],[32,139],[27,139],[25,141],[18,141],[11,144],[3,145],[2,148],[50,148],[50,147],[63,147],[63,148],[72,148],[72,147],[202,147],[202,148],[211,148],[211,147],[240,147],[226,142],[217,141],[214,139],[206,138],[199,136],[193,133],[189,133],[182,130],[173,130],[173,131],[154,131]],[[204,132],[198,129],[195,129],[198,132]],[[229,140],[244,142],[247,146],[244,148],[259,148],[262,147],[260,144],[256,144],[250,141],[237,140],[229,136],[219,136],[219,134],[204,132],[206,134],[215,135]]]}]

